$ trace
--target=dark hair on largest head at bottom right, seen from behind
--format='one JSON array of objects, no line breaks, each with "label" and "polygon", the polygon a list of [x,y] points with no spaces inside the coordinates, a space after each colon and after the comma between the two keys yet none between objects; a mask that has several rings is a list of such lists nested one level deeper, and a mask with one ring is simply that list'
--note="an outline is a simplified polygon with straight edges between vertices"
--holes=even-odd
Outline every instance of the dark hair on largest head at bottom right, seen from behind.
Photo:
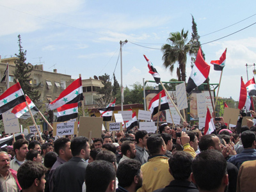
[{"label": "dark hair on largest head at bottom right, seen from behind", "polygon": [[227,161],[218,150],[205,150],[193,160],[192,172],[199,189],[218,189],[227,173]]}]

